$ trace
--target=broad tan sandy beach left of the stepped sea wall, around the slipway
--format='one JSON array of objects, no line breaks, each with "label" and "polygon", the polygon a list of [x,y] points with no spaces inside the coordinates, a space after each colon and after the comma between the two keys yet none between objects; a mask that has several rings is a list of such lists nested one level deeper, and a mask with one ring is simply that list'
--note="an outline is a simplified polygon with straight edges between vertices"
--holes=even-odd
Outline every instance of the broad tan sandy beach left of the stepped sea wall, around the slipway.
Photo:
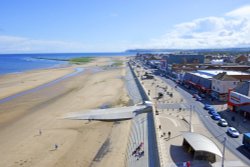
[{"label": "broad tan sandy beach left of the stepped sea wall, around the slipway", "polygon": [[60,119],[66,113],[103,104],[127,104],[121,77],[125,69],[107,66],[103,71],[93,70],[109,65],[112,59],[2,76],[0,90],[6,97],[68,74],[75,67],[86,69],[78,76],[0,104],[0,166],[124,166],[130,121]]}]

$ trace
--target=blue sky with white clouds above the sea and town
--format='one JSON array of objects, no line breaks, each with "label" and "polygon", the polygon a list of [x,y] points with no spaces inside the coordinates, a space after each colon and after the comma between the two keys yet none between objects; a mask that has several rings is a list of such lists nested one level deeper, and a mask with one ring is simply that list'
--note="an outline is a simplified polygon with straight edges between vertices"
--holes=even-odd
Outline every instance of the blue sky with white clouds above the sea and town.
[{"label": "blue sky with white clouds above the sea and town", "polygon": [[0,53],[250,47],[249,0],[0,0]]}]

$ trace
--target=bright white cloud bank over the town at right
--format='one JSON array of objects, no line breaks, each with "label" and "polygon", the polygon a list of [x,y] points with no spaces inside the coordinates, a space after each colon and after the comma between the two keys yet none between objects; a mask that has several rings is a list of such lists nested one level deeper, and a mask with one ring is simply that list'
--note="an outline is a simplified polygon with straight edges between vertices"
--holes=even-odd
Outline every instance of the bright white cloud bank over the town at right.
[{"label": "bright white cloud bank over the town at right", "polygon": [[250,6],[225,14],[205,17],[175,25],[144,48],[225,48],[250,46]]}]

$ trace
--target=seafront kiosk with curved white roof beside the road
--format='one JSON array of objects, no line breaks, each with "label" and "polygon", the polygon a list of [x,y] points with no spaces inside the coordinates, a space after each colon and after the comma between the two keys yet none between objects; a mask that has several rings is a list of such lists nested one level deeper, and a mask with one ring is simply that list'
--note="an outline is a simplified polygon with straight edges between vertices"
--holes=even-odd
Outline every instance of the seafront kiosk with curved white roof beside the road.
[{"label": "seafront kiosk with curved white roof beside the road", "polygon": [[214,163],[216,155],[222,157],[222,153],[215,143],[201,134],[186,132],[183,134],[183,138],[182,146],[192,155],[193,160]]}]

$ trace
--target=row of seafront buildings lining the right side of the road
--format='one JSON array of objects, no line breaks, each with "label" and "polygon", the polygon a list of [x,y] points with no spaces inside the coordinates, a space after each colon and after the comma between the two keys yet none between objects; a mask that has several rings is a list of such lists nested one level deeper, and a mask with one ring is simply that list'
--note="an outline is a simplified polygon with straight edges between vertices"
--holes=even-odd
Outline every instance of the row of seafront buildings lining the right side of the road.
[{"label": "row of seafront buildings lining the right side of the road", "polygon": [[[136,59],[232,111],[250,116],[250,66],[205,63],[201,54],[137,54]],[[249,112],[248,112],[249,111]]]}]

